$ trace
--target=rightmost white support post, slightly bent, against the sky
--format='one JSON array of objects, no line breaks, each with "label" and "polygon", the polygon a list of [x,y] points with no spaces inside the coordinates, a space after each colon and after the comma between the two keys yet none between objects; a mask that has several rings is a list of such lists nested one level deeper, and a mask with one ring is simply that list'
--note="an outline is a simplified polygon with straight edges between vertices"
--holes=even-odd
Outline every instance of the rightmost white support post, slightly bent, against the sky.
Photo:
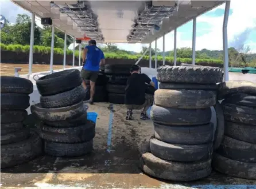
[{"label": "rightmost white support post, slightly bent, against the sky", "polygon": [[227,46],[227,22],[228,22],[229,11],[230,11],[230,1],[226,1],[224,21],[223,21],[224,82],[227,82],[229,80],[228,78],[228,46]]}]

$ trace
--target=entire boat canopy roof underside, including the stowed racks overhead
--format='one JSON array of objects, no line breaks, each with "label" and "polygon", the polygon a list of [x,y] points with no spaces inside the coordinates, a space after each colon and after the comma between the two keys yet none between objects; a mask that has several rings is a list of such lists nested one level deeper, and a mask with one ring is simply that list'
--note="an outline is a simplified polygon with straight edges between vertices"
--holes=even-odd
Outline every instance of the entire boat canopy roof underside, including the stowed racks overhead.
[{"label": "entire boat canopy roof underside, including the stowed racks overhead", "polygon": [[75,38],[150,43],[225,1],[12,1]]}]

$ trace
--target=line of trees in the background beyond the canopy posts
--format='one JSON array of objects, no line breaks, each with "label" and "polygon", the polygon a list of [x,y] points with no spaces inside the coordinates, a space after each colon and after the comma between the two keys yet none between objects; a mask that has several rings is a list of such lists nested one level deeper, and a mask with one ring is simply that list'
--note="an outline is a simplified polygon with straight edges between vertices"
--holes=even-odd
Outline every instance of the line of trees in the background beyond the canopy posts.
[{"label": "line of trees in the background beyond the canopy posts", "polygon": [[[16,23],[11,24],[7,21],[6,26],[1,30],[1,43],[5,45],[22,45],[28,46],[30,44],[30,27],[31,19],[26,14],[18,14]],[[35,46],[44,46],[51,47],[51,38],[52,38],[52,28],[51,26],[43,27],[42,29],[38,26],[34,28],[34,45]],[[67,46],[73,43],[72,37],[67,35]],[[83,43],[82,46],[87,45]],[[99,44],[100,48],[104,53],[108,54],[117,54],[119,57],[137,57],[141,55],[147,47],[142,47],[140,53],[135,53],[134,51],[126,51],[118,49],[115,43],[104,43]],[[64,48],[64,33],[58,29],[55,29],[55,48]],[[78,50],[78,46],[76,50]],[[229,64],[233,67],[241,66],[251,66],[256,67],[256,54],[249,54],[250,48],[248,46],[241,46],[239,49],[234,49],[230,47],[228,49],[228,58]],[[161,56],[164,53],[157,49],[157,55]],[[155,55],[155,50],[152,48],[152,55]],[[115,55],[113,55],[115,57]],[[146,53],[146,56],[149,56],[149,51]],[[173,51],[166,51],[165,57],[173,57]],[[183,47],[177,49],[177,58],[181,59],[191,59],[192,58],[192,49],[188,47]],[[212,59],[212,60],[223,60],[223,51],[219,50],[207,50],[203,49],[196,51],[197,59]],[[212,62],[212,61],[210,61]]]}]

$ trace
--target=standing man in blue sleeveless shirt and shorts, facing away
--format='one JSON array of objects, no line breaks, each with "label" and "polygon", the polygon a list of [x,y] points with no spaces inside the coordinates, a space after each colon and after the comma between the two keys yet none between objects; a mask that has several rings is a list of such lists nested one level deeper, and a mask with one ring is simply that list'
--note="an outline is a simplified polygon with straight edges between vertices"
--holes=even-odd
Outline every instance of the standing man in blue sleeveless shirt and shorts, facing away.
[{"label": "standing man in blue sleeveless shirt and shorts, facing away", "polygon": [[96,41],[89,41],[89,45],[83,51],[83,68],[81,70],[81,77],[83,78],[83,87],[87,91],[86,81],[90,80],[90,99],[86,102],[94,103],[95,83],[99,74],[99,67],[105,64],[105,57],[102,50],[96,46]]}]

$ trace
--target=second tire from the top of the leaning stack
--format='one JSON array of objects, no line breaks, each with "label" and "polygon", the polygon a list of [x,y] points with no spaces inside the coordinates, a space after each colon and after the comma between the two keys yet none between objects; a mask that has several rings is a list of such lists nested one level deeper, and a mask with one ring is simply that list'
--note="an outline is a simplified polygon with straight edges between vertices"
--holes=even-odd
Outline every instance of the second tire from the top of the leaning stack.
[{"label": "second tire from the top of the leaning stack", "polygon": [[82,85],[75,87],[69,91],[51,96],[40,96],[40,103],[43,108],[58,108],[72,106],[79,103],[86,96],[86,90]]}]

